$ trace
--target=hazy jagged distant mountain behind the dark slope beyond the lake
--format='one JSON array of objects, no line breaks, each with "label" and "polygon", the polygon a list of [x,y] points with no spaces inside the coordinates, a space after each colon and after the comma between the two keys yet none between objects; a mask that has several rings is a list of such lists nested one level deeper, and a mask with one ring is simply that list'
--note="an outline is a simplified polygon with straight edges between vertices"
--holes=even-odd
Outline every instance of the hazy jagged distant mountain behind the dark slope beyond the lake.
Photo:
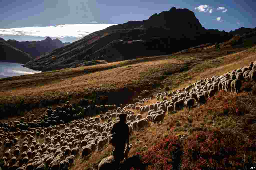
[{"label": "hazy jagged distant mountain behind the dark slope beyond the lake", "polygon": [[42,41],[16,41],[7,40],[8,44],[30,54],[31,57],[36,58],[42,54],[48,53],[56,48],[66,46],[71,43],[62,43],[58,38],[52,40],[47,37]]}]

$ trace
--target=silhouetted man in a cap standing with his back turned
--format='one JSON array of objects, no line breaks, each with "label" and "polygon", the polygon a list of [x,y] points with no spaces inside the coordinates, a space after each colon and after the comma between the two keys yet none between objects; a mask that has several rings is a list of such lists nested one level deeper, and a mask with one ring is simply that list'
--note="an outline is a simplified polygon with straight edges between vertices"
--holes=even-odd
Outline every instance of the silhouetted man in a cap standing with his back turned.
[{"label": "silhouetted man in a cap standing with his back turned", "polygon": [[115,148],[112,155],[117,162],[124,160],[125,144],[127,147],[129,145],[130,130],[129,126],[125,123],[126,116],[127,114],[121,113],[119,115],[120,121],[116,122],[111,129],[111,133],[113,134],[113,139],[115,141]]}]

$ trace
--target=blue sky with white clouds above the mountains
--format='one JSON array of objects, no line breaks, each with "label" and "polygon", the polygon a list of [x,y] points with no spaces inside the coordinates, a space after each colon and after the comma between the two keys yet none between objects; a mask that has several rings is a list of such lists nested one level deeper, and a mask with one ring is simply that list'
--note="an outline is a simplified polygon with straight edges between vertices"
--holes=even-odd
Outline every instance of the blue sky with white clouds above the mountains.
[{"label": "blue sky with white clouds above the mountains", "polygon": [[8,0],[0,2],[0,37],[31,41],[50,36],[73,42],[88,32],[130,20],[145,20],[172,7],[193,11],[206,29],[229,32],[240,27],[255,28],[255,6],[255,0]]}]

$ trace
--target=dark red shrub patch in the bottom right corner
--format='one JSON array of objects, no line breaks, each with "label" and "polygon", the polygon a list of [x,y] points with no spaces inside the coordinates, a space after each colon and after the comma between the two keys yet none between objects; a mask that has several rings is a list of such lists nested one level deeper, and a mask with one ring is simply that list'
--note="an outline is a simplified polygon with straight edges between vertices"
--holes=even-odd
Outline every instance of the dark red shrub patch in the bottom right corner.
[{"label": "dark red shrub patch in the bottom right corner", "polygon": [[244,154],[255,146],[256,141],[229,131],[196,132],[184,141],[182,169],[242,168]]}]

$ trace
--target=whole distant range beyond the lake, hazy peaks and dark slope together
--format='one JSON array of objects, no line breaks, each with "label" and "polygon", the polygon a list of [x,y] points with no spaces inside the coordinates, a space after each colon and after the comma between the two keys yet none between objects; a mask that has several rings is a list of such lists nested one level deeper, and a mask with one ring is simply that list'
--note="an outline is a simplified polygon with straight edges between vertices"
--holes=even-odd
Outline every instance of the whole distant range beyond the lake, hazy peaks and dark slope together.
[{"label": "whole distant range beyond the lake, hazy peaks and dark slope together", "polygon": [[47,37],[42,41],[16,41],[0,38],[0,61],[26,63],[32,59],[71,43]]}]

